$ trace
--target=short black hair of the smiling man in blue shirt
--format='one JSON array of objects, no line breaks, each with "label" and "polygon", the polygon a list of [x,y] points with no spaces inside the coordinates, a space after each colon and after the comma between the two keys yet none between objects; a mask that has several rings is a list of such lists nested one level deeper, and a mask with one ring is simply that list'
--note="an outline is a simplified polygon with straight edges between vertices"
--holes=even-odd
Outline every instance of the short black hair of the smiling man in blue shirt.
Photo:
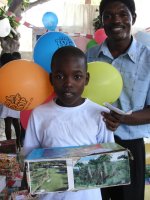
[{"label": "short black hair of the smiling man in blue shirt", "polygon": [[135,2],[134,2],[134,0],[102,0],[100,2],[100,5],[99,5],[99,13],[100,13],[101,17],[102,17],[104,10],[105,10],[105,7],[109,3],[113,3],[115,1],[118,1],[118,2],[125,4],[127,6],[127,8],[130,10],[131,14],[132,15],[135,14]]}]

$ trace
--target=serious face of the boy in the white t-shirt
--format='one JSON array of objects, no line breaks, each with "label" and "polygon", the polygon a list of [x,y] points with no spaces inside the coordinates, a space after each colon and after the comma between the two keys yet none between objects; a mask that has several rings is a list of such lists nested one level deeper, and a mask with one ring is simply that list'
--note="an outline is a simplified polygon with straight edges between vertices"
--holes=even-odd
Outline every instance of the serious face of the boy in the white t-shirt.
[{"label": "serious face of the boy in the white t-shirt", "polygon": [[53,66],[50,80],[58,96],[57,103],[65,107],[78,106],[83,102],[81,97],[84,86],[88,84],[83,58],[65,57]]}]

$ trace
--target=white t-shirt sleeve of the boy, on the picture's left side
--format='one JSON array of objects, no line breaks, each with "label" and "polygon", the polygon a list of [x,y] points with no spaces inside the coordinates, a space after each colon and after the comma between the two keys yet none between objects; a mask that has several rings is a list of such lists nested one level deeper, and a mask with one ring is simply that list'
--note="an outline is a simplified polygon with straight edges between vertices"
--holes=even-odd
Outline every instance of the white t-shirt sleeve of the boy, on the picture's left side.
[{"label": "white t-shirt sleeve of the boy, on the picture's left side", "polygon": [[34,114],[32,112],[28,126],[26,129],[25,140],[23,145],[23,155],[26,157],[33,149],[39,148],[40,143],[37,137],[37,130],[35,125]]}]

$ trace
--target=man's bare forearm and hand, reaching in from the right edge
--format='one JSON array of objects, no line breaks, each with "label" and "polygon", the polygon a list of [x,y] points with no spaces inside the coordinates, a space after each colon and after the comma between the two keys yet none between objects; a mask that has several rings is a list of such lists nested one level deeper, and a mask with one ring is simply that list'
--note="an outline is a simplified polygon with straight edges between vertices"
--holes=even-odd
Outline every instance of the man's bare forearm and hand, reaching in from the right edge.
[{"label": "man's bare forearm and hand, reaching in from the right edge", "polygon": [[150,106],[143,110],[135,111],[131,115],[119,115],[113,111],[110,113],[103,112],[102,115],[107,128],[115,131],[120,124],[135,126],[150,123]]}]

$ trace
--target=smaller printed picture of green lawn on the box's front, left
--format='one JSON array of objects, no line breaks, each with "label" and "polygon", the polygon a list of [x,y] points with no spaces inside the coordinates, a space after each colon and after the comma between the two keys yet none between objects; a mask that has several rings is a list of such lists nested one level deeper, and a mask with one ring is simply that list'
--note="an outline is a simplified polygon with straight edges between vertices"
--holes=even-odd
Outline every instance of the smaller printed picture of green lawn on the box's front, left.
[{"label": "smaller printed picture of green lawn on the box's front, left", "polygon": [[68,189],[66,161],[29,162],[31,193]]}]

